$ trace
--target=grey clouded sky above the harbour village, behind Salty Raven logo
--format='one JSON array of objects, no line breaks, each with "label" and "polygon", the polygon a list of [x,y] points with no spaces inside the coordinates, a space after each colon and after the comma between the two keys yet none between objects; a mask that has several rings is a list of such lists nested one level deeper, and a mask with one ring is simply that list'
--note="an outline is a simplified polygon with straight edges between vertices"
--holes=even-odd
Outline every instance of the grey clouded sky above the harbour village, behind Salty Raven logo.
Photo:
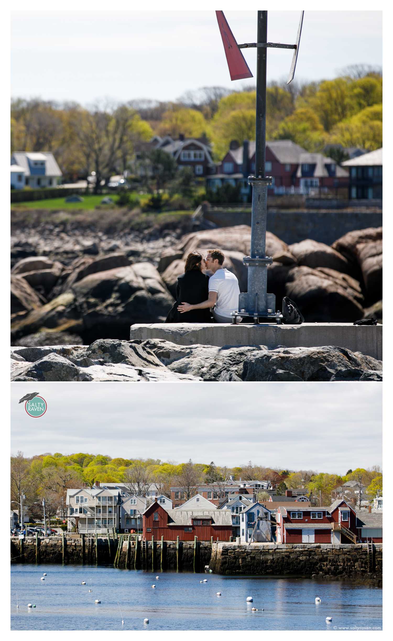
[{"label": "grey clouded sky above the harbour village, behind Salty Raven logo", "polygon": [[[381,465],[380,383],[12,383],[12,453],[345,474]],[[39,390],[33,419],[19,399]],[[234,393],[236,392],[236,394]]]}]

